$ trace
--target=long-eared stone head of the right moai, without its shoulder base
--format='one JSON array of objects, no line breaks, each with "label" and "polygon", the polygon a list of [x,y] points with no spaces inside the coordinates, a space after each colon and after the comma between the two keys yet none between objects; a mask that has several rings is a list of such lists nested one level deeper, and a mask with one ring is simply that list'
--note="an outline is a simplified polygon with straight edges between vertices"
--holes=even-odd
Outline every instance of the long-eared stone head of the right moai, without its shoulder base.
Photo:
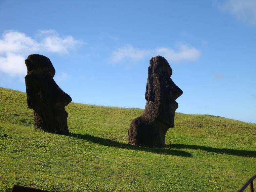
[{"label": "long-eared stone head of the right moai, without its shoulder base", "polygon": [[152,115],[170,127],[174,127],[175,101],[183,92],[171,80],[172,69],[162,56],[152,57],[148,67],[145,99],[152,107]]}]

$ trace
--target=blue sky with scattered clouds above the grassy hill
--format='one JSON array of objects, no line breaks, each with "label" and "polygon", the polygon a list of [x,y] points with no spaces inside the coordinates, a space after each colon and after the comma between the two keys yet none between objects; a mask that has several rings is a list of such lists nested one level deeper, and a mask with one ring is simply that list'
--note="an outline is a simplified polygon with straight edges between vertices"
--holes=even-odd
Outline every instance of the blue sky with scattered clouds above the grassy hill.
[{"label": "blue sky with scattered clouds above the grassy hill", "polygon": [[164,56],[178,112],[256,123],[256,1],[0,0],[0,86],[25,91],[24,59],[50,58],[74,102],[145,106]]}]

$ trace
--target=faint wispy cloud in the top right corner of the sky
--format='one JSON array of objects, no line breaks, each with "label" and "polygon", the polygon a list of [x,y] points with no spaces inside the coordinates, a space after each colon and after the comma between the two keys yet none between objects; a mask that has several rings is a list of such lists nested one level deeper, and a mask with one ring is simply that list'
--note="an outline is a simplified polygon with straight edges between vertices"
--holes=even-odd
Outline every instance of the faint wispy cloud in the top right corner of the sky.
[{"label": "faint wispy cloud in the top right corner of the sky", "polygon": [[219,7],[246,24],[256,24],[256,0],[226,0]]}]

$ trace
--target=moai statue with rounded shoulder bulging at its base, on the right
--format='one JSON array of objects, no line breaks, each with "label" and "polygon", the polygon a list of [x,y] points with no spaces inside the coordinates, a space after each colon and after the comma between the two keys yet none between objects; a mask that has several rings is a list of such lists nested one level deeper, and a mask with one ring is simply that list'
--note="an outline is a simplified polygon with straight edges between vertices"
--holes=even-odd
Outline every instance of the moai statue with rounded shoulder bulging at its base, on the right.
[{"label": "moai statue with rounded shoulder bulging at its base, on the right", "polygon": [[134,145],[160,148],[165,134],[174,127],[175,101],[183,92],[171,80],[172,68],[162,56],[152,57],[148,67],[146,106],[141,116],[132,120],[127,141]]}]

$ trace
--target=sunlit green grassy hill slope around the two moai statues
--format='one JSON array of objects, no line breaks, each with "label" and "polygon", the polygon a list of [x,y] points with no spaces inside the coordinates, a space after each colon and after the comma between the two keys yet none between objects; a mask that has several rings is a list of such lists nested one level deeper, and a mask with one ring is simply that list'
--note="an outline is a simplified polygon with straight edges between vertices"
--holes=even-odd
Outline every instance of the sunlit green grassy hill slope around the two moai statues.
[{"label": "sunlit green grassy hill slope around the two moai statues", "polygon": [[126,142],[141,109],[66,110],[71,134],[42,132],[26,93],[0,88],[0,191],[237,191],[256,174],[256,124],[176,113],[166,147],[148,149]]}]

